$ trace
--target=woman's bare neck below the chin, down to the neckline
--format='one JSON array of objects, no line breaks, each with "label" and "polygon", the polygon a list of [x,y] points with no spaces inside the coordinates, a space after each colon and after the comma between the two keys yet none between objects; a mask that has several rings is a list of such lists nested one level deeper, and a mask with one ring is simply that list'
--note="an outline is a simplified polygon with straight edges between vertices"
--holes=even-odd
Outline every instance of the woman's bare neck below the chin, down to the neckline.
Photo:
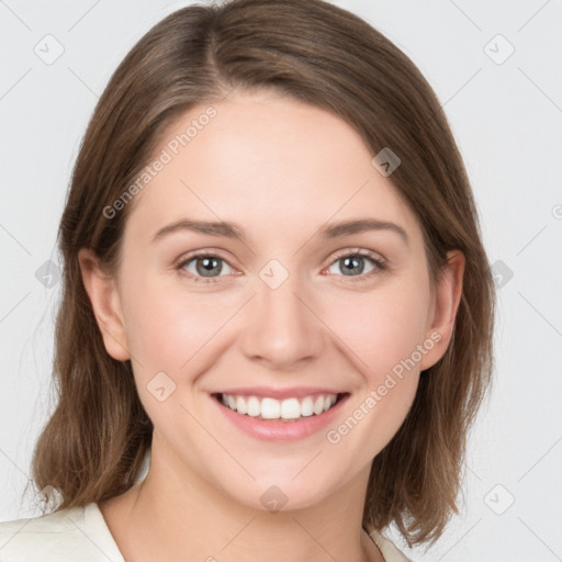
[{"label": "woman's bare neck below the chin, down to the neckline", "polygon": [[124,558],[135,562],[382,562],[361,528],[368,477],[366,467],[318,504],[272,513],[240,505],[153,449],[146,479],[100,508]]}]

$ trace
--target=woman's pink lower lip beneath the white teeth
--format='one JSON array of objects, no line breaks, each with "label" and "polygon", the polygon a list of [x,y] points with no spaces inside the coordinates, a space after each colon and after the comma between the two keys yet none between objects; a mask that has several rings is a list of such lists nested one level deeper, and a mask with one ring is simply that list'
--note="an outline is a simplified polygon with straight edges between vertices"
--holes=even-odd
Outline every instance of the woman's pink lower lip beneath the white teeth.
[{"label": "woman's pink lower lip beneath the white teeth", "polygon": [[341,396],[327,412],[318,415],[301,417],[296,422],[283,422],[281,419],[258,419],[256,417],[238,414],[226,407],[222,402],[212,396],[222,415],[246,434],[263,441],[297,441],[316,434],[326,427],[338,415],[348,394]]}]

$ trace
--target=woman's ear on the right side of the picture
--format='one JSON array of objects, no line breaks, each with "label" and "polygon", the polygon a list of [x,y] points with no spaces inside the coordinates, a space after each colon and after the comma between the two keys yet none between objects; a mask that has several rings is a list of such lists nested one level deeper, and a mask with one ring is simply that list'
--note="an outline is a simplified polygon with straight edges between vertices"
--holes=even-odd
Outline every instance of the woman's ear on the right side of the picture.
[{"label": "woman's ear on the right side of the picture", "polygon": [[437,291],[432,299],[432,321],[426,331],[426,341],[432,341],[432,348],[423,356],[422,371],[432,367],[443,357],[451,341],[454,318],[462,295],[462,278],[465,258],[462,251],[447,252],[447,263],[439,274]]}]

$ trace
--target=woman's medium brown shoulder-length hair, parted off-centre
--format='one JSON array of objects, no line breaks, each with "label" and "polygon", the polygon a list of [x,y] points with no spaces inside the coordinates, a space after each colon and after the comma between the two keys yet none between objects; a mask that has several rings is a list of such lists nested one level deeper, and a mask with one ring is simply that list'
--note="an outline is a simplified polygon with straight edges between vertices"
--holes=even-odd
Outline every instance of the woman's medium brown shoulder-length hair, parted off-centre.
[{"label": "woman's medium brown shoulder-length hair, parted off-centre", "polygon": [[58,403],[33,457],[40,490],[58,509],[128,490],[153,424],[130,361],[110,357],[85,290],[78,250],[115,271],[132,205],[108,218],[173,121],[234,89],[272,89],[325,109],[376,155],[423,229],[431,281],[448,250],[465,256],[463,289],[445,356],[420,378],[397,434],[374,458],[363,527],[395,524],[406,541],[435,541],[457,502],[468,431],[493,368],[495,294],[469,179],[447,117],[415,65],[375,29],[322,0],[234,0],[191,5],[144,35],[113,74],[86,131],[61,216],[64,265],[54,382]]}]

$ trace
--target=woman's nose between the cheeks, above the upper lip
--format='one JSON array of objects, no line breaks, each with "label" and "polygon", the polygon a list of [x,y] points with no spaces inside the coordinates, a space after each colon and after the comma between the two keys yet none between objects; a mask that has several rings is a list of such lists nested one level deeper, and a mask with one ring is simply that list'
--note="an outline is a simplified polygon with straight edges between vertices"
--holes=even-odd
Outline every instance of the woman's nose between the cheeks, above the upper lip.
[{"label": "woman's nose between the cheeks, above the upper lip", "polygon": [[271,370],[302,368],[323,352],[326,327],[317,316],[315,299],[296,276],[277,289],[258,280],[257,294],[247,307],[241,348],[252,361]]}]

